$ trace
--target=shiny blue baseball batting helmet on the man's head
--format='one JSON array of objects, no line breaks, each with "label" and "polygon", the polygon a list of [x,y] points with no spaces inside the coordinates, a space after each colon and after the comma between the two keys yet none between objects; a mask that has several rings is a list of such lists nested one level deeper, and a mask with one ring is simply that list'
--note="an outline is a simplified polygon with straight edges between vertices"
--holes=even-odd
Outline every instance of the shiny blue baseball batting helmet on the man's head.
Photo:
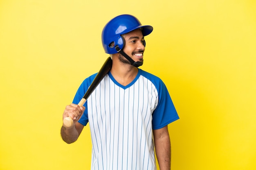
[{"label": "shiny blue baseball batting helmet on the man's head", "polygon": [[105,52],[107,54],[117,53],[117,50],[114,48],[117,45],[122,50],[125,42],[121,35],[129,33],[137,28],[141,28],[143,36],[146,36],[153,31],[152,26],[142,26],[139,20],[132,15],[119,15],[110,20],[103,28],[101,34],[101,41]]}]

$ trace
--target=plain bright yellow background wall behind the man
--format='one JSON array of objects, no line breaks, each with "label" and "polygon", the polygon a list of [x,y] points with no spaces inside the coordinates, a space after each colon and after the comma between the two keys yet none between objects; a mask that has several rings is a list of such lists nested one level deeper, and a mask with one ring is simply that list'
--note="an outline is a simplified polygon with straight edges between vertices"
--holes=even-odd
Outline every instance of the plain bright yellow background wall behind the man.
[{"label": "plain bright yellow background wall behind the man", "polygon": [[180,116],[172,169],[255,170],[255,0],[0,0],[0,170],[90,169],[89,127],[65,144],[62,113],[124,13],[154,27],[141,69]]}]

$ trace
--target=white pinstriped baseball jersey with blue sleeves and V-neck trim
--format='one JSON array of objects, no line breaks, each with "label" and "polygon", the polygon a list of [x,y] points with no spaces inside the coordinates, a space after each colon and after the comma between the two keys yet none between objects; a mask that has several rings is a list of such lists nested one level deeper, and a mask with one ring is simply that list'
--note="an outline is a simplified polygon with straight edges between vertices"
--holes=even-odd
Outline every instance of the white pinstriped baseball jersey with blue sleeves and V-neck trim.
[{"label": "white pinstriped baseball jersey with blue sleeves and V-neck trim", "polygon": [[[73,103],[95,76],[83,81]],[[152,131],[179,119],[164,83],[141,69],[127,86],[109,72],[85,108],[79,123],[90,124],[92,170],[156,170]]]}]

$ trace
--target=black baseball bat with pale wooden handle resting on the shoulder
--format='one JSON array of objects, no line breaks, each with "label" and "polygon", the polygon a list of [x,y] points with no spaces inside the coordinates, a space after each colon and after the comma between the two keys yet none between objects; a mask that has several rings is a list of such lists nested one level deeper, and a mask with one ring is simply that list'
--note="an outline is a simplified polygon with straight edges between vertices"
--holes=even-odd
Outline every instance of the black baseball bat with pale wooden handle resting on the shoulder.
[{"label": "black baseball bat with pale wooden handle resting on the shoulder", "polygon": [[[80,107],[82,107],[85,104],[88,97],[92,94],[94,89],[99,85],[101,80],[106,76],[106,74],[110,71],[111,68],[112,68],[112,59],[110,57],[108,57],[108,59],[102,65],[98,74],[95,76],[94,80],[92,81],[92,84],[89,86],[89,88],[85,92],[85,95],[83,96],[83,98],[78,103],[78,105]],[[72,125],[73,125],[73,119],[72,118],[66,117],[66,118],[63,119],[63,126],[70,127]]]}]

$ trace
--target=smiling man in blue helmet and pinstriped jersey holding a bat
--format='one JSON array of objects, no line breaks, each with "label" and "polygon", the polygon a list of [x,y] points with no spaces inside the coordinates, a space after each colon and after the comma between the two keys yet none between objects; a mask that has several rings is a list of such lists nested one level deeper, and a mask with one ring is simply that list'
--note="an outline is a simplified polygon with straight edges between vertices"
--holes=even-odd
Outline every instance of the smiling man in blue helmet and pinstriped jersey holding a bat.
[{"label": "smiling man in blue helmet and pinstriped jersey holding a bat", "polygon": [[110,20],[102,31],[110,72],[83,107],[77,104],[96,74],[83,81],[65,108],[63,118],[74,120],[61,128],[65,142],[75,142],[90,124],[93,170],[156,170],[155,152],[160,170],[171,168],[168,124],[179,117],[160,78],[137,68],[143,64],[144,36],[152,31],[132,15]]}]

